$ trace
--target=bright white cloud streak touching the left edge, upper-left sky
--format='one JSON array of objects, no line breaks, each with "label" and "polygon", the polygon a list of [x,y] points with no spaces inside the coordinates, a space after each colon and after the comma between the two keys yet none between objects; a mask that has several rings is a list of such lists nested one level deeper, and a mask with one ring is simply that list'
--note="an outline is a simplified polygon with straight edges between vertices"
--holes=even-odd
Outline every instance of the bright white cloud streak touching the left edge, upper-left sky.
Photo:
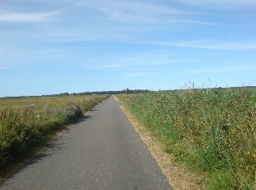
[{"label": "bright white cloud streak touching the left edge, upper-left sky", "polygon": [[44,13],[18,13],[0,10],[0,23],[36,23],[52,19],[53,16],[60,14],[63,10],[55,10]]}]

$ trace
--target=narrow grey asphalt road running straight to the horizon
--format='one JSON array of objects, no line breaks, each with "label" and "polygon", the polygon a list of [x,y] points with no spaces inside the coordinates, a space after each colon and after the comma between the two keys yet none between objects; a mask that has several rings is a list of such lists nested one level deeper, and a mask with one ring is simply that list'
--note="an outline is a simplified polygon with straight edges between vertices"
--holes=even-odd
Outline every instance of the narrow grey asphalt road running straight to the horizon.
[{"label": "narrow grey asphalt road running straight to the horizon", "polygon": [[172,189],[114,97],[0,185],[0,189]]}]

